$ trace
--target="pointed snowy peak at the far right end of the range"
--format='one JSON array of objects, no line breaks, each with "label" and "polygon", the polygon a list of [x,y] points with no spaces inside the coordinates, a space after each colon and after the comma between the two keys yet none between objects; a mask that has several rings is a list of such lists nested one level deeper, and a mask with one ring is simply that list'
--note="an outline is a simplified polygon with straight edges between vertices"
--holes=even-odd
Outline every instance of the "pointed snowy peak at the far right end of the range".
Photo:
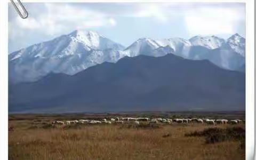
[{"label": "pointed snowy peak at the far right end of the range", "polygon": [[227,46],[229,46],[233,51],[241,54],[245,57],[245,38],[234,34],[227,39]]}]

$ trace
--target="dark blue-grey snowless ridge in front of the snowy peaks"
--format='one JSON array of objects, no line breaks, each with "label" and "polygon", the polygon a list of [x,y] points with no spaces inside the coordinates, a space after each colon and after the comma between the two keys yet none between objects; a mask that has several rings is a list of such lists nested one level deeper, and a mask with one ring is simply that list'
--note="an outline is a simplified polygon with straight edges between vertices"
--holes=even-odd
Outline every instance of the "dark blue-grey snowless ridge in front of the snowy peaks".
[{"label": "dark blue-grey snowless ridge in front of the snowy peaks", "polygon": [[9,86],[9,111],[245,110],[245,74],[174,54],[103,62]]}]

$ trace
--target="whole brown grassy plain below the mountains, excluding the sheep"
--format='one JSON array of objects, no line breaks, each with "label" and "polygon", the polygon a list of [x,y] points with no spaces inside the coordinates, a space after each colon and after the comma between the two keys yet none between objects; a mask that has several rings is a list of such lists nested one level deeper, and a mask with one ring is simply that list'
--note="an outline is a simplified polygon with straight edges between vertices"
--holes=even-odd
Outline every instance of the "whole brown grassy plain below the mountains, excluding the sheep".
[{"label": "whole brown grassy plain below the mountains, excluding the sheep", "polygon": [[70,124],[115,117],[244,119],[231,113],[9,115],[9,159],[245,159],[245,124]]}]

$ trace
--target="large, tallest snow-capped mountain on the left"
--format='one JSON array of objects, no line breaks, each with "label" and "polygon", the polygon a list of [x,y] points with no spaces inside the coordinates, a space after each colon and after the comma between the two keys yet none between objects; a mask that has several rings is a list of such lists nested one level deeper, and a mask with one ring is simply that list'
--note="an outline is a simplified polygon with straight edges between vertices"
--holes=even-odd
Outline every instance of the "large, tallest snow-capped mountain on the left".
[{"label": "large, tallest snow-capped mountain on the left", "polygon": [[11,82],[29,82],[51,72],[74,75],[99,63],[116,62],[127,56],[123,49],[95,31],[75,30],[11,53],[9,77]]}]

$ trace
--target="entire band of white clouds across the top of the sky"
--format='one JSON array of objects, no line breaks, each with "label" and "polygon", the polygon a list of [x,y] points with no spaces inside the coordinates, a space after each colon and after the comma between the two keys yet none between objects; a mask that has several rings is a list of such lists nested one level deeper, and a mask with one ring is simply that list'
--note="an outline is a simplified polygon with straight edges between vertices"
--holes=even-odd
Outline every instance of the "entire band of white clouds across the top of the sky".
[{"label": "entire band of white clouds across the top of the sky", "polygon": [[[42,6],[36,5],[35,7]],[[232,34],[238,21],[244,20],[245,6],[208,3],[126,3],[104,5],[75,5],[70,3],[44,3],[44,7],[30,9],[24,20],[16,15],[10,21],[18,29],[37,30],[53,35],[74,29],[116,26],[116,17],[153,18],[157,22],[170,22],[181,18],[190,35]],[[101,6],[101,7],[99,7]],[[111,7],[110,7],[111,6]],[[242,13],[242,14],[241,14]],[[11,28],[12,29],[12,28]],[[17,28],[15,28],[17,29]]]}]

